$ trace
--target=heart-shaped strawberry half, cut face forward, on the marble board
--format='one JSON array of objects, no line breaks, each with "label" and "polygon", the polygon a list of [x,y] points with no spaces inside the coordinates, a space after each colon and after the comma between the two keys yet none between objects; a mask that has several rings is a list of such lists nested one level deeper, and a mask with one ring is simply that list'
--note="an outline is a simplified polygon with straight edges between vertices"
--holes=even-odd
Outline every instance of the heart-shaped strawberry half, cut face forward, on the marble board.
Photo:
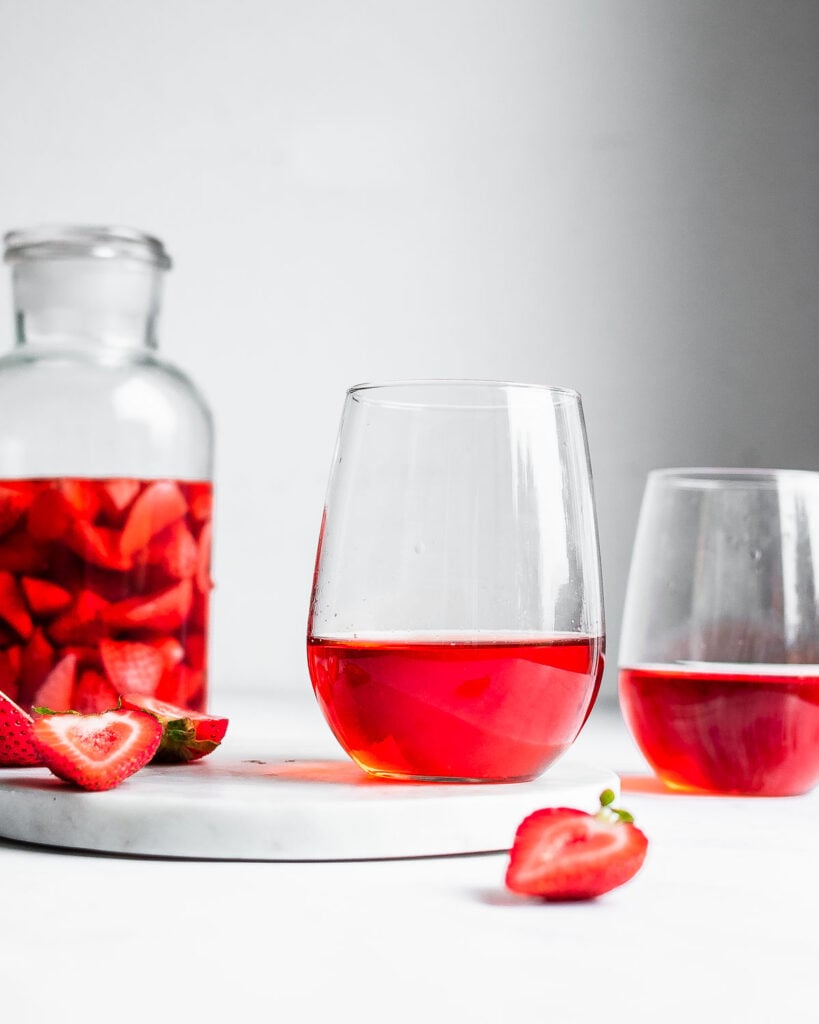
[{"label": "heart-shaped strawberry half, cut face forward, on the marble board", "polygon": [[139,711],[44,715],[33,728],[46,767],[83,790],[112,790],[157,753],[162,726]]}]

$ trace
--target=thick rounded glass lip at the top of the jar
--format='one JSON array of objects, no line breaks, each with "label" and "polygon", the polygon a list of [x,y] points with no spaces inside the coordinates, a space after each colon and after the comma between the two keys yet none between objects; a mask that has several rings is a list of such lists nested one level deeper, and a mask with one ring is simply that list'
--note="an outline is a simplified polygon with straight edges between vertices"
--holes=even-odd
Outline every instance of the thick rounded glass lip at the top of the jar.
[{"label": "thick rounded glass lip at the top of the jar", "polygon": [[3,241],[7,263],[85,256],[98,259],[126,257],[153,263],[163,270],[171,265],[171,258],[162,242],[133,227],[47,224],[8,231]]}]

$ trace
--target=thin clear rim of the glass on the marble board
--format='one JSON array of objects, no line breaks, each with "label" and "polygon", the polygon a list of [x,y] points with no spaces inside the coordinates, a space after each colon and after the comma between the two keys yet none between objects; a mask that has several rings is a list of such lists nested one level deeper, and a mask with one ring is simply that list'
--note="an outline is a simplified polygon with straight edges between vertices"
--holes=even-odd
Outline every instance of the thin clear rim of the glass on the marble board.
[{"label": "thin clear rim of the glass on the marble board", "polygon": [[[451,391],[463,394],[464,400],[461,401],[442,401],[436,400],[434,395],[436,392],[442,392],[444,389],[450,389]],[[403,400],[398,399],[399,393],[405,392]],[[580,395],[578,391],[575,391],[570,387],[563,387],[558,384],[530,384],[525,382],[516,381],[499,381],[499,380],[480,380],[478,378],[446,378],[446,377],[433,377],[433,378],[412,378],[408,380],[395,380],[395,381],[368,381],[362,384],[355,384],[347,389],[347,398],[352,401],[362,401],[365,400],[371,394],[374,395],[373,400],[375,403],[380,406],[399,406],[403,408],[430,408],[430,409],[478,409],[478,408],[505,408],[501,402],[486,406],[485,402],[469,401],[466,400],[466,396],[470,393],[477,394],[481,391],[489,392],[490,394],[505,394],[508,392],[521,392],[521,393],[531,393],[531,394],[542,394],[549,395],[553,401],[556,399],[565,401],[580,402]],[[374,394],[377,393],[379,397]],[[381,393],[384,393],[384,398],[380,397]],[[393,397],[389,397],[392,395]]]}]

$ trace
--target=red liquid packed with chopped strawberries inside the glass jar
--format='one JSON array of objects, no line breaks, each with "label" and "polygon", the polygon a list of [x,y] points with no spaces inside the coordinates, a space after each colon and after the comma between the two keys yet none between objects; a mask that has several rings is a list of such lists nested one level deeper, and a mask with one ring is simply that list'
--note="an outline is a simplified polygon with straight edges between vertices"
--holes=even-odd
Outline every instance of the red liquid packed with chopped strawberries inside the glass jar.
[{"label": "red liquid packed with chopped strawberries inside the glass jar", "polygon": [[103,711],[131,689],[203,710],[211,505],[207,482],[0,479],[0,691],[26,709]]}]

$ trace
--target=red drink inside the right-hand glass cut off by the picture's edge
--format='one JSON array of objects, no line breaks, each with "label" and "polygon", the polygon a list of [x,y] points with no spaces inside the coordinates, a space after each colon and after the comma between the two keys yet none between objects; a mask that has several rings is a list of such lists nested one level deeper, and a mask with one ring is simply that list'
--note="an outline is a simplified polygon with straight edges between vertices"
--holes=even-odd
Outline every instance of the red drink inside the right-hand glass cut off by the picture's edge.
[{"label": "red drink inside the right-hand glass cut off by the picture's edge", "polygon": [[670,785],[788,796],[819,779],[819,668],[746,668],[620,671],[626,721]]}]

